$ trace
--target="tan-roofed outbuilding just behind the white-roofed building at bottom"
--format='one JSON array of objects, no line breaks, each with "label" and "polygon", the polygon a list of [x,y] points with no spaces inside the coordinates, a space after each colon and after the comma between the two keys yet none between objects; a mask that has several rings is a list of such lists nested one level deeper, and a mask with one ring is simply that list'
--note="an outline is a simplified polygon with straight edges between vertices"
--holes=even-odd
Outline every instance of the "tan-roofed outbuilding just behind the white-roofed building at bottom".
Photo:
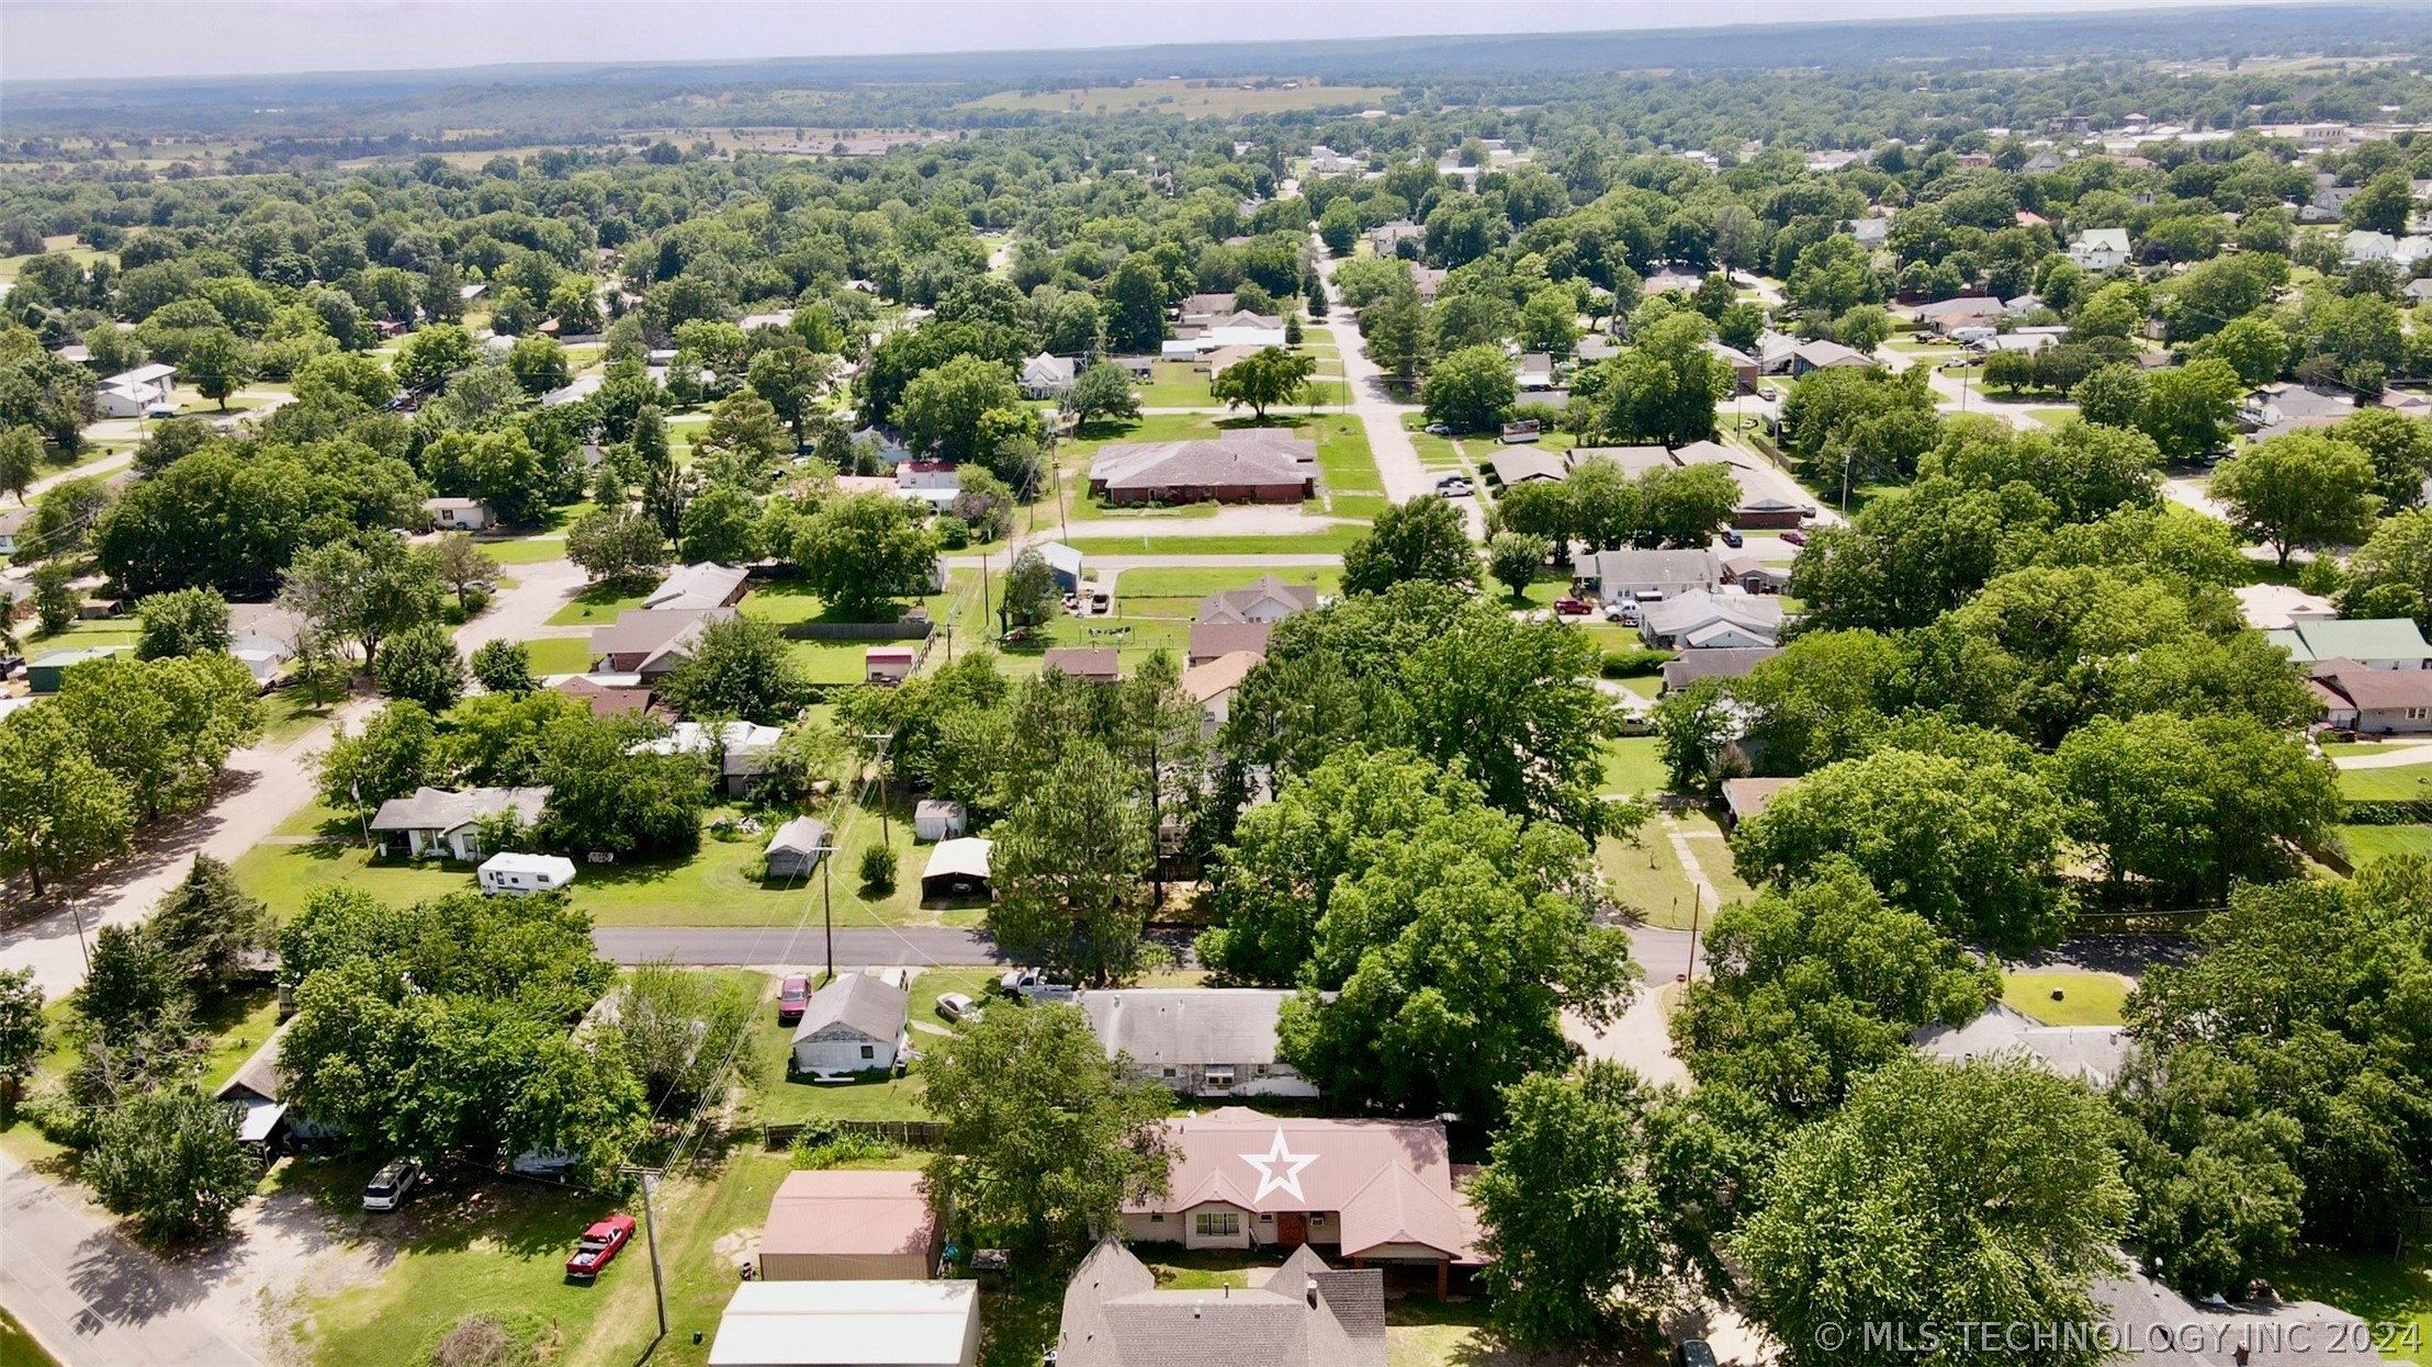
[{"label": "tan-roofed outbuilding just behind the white-roofed building at bottom", "polygon": [[761,1228],[761,1282],[917,1282],[939,1223],[919,1172],[788,1172]]}]

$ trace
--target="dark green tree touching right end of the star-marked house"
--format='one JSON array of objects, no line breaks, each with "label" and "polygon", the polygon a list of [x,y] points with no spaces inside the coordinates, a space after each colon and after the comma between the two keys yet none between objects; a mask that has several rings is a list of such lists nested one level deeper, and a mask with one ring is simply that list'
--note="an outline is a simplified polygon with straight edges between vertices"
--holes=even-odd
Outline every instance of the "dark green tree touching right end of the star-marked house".
[{"label": "dark green tree touching right end of the star-marked house", "polygon": [[1493,1318],[1513,1343],[1595,1338],[1663,1275],[1651,1112],[1639,1078],[1603,1061],[1503,1092],[1503,1129],[1469,1199],[1486,1228]]}]

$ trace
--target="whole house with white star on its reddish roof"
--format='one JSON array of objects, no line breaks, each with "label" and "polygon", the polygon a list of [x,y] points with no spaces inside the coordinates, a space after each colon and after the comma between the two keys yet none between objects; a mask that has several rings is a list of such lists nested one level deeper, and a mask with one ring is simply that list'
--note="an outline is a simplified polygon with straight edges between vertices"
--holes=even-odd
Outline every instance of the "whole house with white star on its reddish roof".
[{"label": "whole house with white star on its reddish roof", "polygon": [[1128,1243],[1299,1248],[1369,1262],[1474,1267],[1479,1221],[1452,1185],[1442,1121],[1299,1119],[1248,1107],[1165,1121],[1162,1197],[1124,1204]]}]

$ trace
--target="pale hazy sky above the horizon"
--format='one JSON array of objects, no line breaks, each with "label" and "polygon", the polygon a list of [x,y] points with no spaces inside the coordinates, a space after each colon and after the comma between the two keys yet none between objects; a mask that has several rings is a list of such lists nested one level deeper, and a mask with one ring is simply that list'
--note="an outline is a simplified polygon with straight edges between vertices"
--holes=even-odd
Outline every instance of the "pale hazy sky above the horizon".
[{"label": "pale hazy sky above the horizon", "polygon": [[[2223,0],[1736,0],[1734,24]],[[1700,27],[1678,0],[0,0],[0,80]]]}]

